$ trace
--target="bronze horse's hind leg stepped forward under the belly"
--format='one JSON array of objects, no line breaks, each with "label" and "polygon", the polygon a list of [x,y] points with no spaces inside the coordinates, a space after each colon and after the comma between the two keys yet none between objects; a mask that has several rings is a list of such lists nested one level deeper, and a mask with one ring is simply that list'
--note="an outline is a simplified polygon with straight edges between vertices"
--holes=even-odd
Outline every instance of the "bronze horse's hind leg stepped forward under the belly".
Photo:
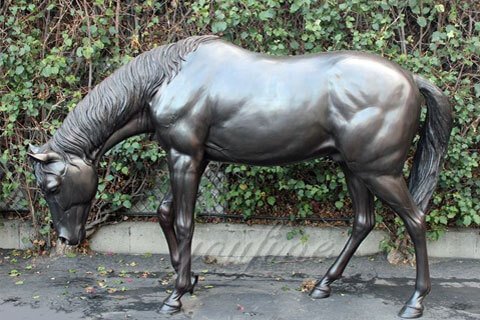
[{"label": "bronze horse's hind leg stepped forward under the belly", "polygon": [[322,299],[330,296],[330,284],[341,277],[351,257],[375,226],[374,200],[372,193],[345,165],[342,165],[342,169],[345,173],[347,187],[355,213],[352,234],[336,261],[310,292],[310,296],[314,299]]}]

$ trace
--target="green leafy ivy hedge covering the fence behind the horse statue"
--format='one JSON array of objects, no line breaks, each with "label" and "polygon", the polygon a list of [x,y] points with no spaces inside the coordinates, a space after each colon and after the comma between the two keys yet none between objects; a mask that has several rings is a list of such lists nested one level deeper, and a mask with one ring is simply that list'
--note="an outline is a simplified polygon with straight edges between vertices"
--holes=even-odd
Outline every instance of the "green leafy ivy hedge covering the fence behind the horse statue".
[{"label": "green leafy ivy hedge covering the fence behind the horse statue", "polygon": [[[476,0],[10,0],[0,7],[0,203],[28,208],[44,233],[50,232],[48,210],[36,192],[28,144],[47,141],[88,90],[131,57],[207,33],[272,55],[374,52],[436,83],[451,98],[455,128],[427,216],[429,230],[438,237],[447,226],[480,226]],[[164,156],[144,137],[111,150],[100,164],[94,218],[132,208],[140,197],[153,200],[148,190],[166,179],[164,170],[157,173]],[[202,205],[221,202],[246,217],[282,213],[292,220],[351,212],[345,177],[331,161],[228,165],[225,175],[226,192],[206,195]],[[398,219],[380,204],[377,209],[380,224],[403,233]]]}]

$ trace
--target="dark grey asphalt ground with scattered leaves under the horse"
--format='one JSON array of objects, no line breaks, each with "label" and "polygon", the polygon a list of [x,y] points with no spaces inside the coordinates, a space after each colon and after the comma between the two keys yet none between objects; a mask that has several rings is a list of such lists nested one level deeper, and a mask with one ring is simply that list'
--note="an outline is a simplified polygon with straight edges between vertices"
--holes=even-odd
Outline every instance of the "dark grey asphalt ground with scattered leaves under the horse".
[{"label": "dark grey asphalt ground with scattered leaves under the horse", "polygon": [[[196,257],[200,274],[182,312],[159,312],[174,274],[163,255],[93,254],[28,257],[0,250],[0,319],[400,319],[415,269],[384,256],[355,257],[331,297],[302,288],[333,259],[256,258],[221,264]],[[422,319],[480,319],[480,261],[432,259],[432,292]]]}]

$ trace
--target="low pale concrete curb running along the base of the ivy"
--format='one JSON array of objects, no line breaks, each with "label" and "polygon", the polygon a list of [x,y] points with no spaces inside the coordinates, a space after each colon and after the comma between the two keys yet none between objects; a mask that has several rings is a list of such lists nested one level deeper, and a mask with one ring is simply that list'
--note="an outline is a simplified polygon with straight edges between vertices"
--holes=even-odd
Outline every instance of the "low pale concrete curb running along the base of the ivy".
[{"label": "low pale concrete curb running along the base of the ivy", "polygon": [[[298,228],[244,224],[197,224],[193,237],[194,255],[212,256],[220,261],[248,262],[258,256],[332,257],[337,256],[348,238],[348,228],[303,227],[308,239],[287,239]],[[0,220],[0,247],[25,249],[33,229],[27,223]],[[357,255],[380,252],[383,231],[373,231],[362,243]],[[107,225],[90,239],[98,252],[168,254],[165,238],[157,223],[122,222]],[[450,230],[439,241],[429,242],[429,256],[436,258],[480,259],[480,230]]]}]

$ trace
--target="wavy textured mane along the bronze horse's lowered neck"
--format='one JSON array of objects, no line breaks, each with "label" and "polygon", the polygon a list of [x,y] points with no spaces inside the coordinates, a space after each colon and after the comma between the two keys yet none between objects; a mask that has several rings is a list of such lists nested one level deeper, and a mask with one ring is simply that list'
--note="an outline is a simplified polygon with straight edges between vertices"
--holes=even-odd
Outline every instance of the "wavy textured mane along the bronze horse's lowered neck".
[{"label": "wavy textured mane along the bronze horse's lowered neck", "polygon": [[185,57],[217,36],[194,36],[144,52],[116,70],[88,93],[67,115],[48,142],[69,159],[86,158],[135,113],[147,106],[159,86],[180,71]]}]

